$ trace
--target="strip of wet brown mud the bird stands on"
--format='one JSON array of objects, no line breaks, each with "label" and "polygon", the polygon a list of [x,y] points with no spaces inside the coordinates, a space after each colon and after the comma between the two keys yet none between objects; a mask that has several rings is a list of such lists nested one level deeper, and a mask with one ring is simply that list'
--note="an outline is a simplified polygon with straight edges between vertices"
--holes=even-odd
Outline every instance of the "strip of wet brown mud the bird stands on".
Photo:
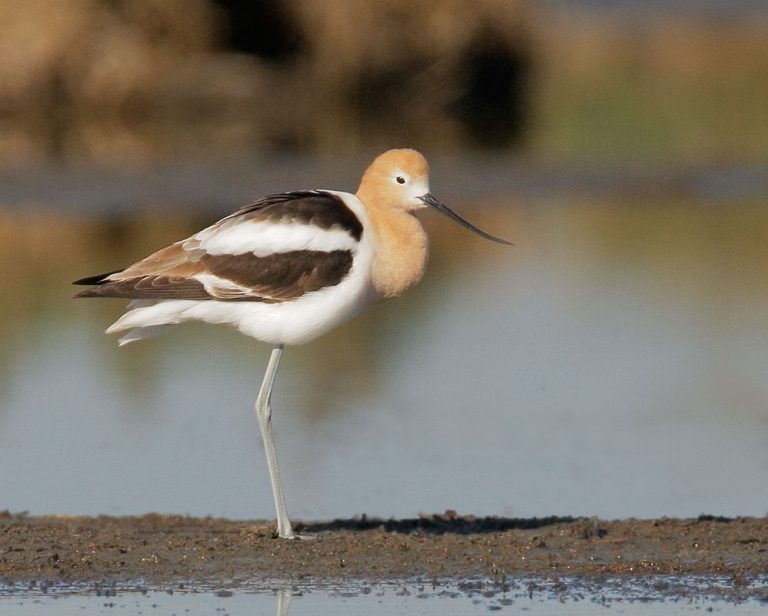
[{"label": "strip of wet brown mud the bird stands on", "polygon": [[664,574],[717,575],[739,588],[768,573],[768,518],[605,521],[447,512],[298,527],[313,538],[277,539],[266,521],[3,513],[0,582],[162,586],[258,578],[376,583]]}]

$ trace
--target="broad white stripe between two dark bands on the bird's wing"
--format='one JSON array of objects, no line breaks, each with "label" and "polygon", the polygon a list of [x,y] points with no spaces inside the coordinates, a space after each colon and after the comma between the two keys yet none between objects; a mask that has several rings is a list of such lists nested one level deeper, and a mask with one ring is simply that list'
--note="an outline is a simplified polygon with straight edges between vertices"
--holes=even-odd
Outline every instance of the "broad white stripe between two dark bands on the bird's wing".
[{"label": "broad white stripe between two dark bands on the bird's wing", "polygon": [[199,248],[212,255],[257,257],[294,250],[354,250],[355,239],[342,229],[321,229],[300,223],[244,221],[231,226],[213,226],[194,236]]}]

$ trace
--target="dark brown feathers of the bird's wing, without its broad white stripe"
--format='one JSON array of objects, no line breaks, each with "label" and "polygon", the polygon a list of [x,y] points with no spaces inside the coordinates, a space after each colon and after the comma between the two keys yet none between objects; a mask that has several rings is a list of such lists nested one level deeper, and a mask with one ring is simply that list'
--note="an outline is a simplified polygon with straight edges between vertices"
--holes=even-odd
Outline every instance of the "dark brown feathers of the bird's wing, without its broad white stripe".
[{"label": "dark brown feathers of the bird's wing, without its broad white stripe", "polygon": [[[355,239],[362,234],[362,225],[344,202],[322,192],[273,195],[209,229],[215,231],[252,219],[311,224],[321,229],[337,227]],[[125,270],[76,281],[97,286],[75,297],[282,302],[338,284],[352,268],[352,259],[350,250],[214,255],[200,248],[193,236]]]}]

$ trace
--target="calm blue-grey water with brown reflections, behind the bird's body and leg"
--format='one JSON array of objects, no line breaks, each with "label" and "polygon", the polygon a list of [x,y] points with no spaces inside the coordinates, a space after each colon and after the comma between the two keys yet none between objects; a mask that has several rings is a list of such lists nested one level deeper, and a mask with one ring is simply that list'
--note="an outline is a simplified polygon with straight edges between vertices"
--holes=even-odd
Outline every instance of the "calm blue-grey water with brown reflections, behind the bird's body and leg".
[{"label": "calm blue-grey water with brown reflections, behind the bird's body and leg", "polygon": [[[418,288],[286,352],[274,422],[292,516],[768,511],[765,208],[563,195],[457,209],[515,246],[427,216]],[[184,326],[118,349],[101,332],[122,303],[70,300],[70,280],[192,223],[59,215],[33,243],[41,225],[14,220],[0,229],[0,507],[271,518],[252,412],[268,347]]]}]

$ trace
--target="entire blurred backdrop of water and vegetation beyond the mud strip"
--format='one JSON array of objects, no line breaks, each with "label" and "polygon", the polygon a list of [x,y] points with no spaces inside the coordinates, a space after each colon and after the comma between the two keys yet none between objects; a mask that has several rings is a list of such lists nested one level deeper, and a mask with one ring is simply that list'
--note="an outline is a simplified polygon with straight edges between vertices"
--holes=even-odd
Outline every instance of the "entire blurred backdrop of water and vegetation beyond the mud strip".
[{"label": "entire blurred backdrop of water and vegetation beyond the mud strip", "polygon": [[762,0],[0,2],[0,509],[271,517],[268,348],[70,281],[389,147],[407,297],[289,349],[289,511],[768,512]]}]

